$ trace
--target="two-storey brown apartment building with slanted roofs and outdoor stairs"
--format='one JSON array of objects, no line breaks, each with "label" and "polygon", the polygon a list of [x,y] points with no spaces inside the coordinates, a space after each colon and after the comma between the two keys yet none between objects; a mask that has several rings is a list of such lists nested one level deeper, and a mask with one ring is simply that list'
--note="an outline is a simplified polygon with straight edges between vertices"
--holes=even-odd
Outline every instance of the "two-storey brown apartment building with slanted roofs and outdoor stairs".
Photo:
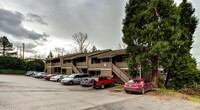
[{"label": "two-storey brown apartment building with slanted roofs and outdoor stairs", "polygon": [[122,50],[100,50],[90,53],[68,54],[62,57],[46,59],[48,73],[88,73],[115,77],[118,82],[126,82],[131,76],[126,72],[125,59],[128,54]]}]

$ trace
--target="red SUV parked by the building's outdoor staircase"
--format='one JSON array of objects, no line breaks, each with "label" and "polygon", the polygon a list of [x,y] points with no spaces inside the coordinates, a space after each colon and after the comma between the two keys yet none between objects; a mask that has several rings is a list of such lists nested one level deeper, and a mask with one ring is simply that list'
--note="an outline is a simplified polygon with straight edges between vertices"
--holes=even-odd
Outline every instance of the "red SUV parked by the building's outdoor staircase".
[{"label": "red SUV parked by the building's outdoor staircase", "polygon": [[104,89],[105,86],[114,86],[116,80],[109,76],[98,76],[92,77],[91,83],[93,88],[102,88]]}]

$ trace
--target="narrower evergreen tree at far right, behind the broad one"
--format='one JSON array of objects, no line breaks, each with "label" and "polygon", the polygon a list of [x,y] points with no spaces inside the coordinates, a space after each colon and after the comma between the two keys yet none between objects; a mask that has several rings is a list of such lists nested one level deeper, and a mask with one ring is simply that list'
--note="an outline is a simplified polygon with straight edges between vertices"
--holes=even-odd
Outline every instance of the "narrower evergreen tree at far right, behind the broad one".
[{"label": "narrower evergreen tree at far right, behind the broad one", "polygon": [[[193,34],[198,24],[198,20],[194,16],[195,9],[191,3],[183,0],[178,6],[178,11],[180,16],[178,27],[181,30],[179,32],[179,42],[182,42],[182,44],[179,47],[176,59],[174,59],[171,67],[169,66],[167,69],[169,74],[167,75],[165,86],[171,88],[191,86],[192,83],[198,82],[197,79],[199,76],[196,69],[196,61],[190,54],[194,37]],[[169,80],[170,83],[168,84]],[[188,80],[192,81],[188,82]]]}]

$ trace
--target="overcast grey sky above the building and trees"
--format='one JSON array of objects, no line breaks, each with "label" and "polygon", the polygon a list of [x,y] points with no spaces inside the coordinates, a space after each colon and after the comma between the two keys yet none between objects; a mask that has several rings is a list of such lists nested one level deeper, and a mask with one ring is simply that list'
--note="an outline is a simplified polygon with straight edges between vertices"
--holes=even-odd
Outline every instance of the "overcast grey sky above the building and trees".
[{"label": "overcast grey sky above the building and trees", "polygon": [[[98,49],[117,49],[128,0],[0,0],[0,36],[6,35],[26,57],[74,51],[72,35],[87,33]],[[180,3],[181,0],[176,0]],[[200,0],[189,0],[200,17]],[[200,62],[200,28],[191,53]]]}]

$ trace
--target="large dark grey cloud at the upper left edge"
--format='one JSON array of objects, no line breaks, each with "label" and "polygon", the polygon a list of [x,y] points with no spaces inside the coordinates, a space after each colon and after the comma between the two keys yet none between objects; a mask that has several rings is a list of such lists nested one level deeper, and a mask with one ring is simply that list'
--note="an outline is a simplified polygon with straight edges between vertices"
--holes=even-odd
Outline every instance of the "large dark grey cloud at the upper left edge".
[{"label": "large dark grey cloud at the upper left edge", "polygon": [[18,39],[31,39],[45,41],[47,34],[39,34],[34,30],[30,31],[23,27],[22,22],[25,17],[20,12],[0,9],[0,31],[11,34]]}]

